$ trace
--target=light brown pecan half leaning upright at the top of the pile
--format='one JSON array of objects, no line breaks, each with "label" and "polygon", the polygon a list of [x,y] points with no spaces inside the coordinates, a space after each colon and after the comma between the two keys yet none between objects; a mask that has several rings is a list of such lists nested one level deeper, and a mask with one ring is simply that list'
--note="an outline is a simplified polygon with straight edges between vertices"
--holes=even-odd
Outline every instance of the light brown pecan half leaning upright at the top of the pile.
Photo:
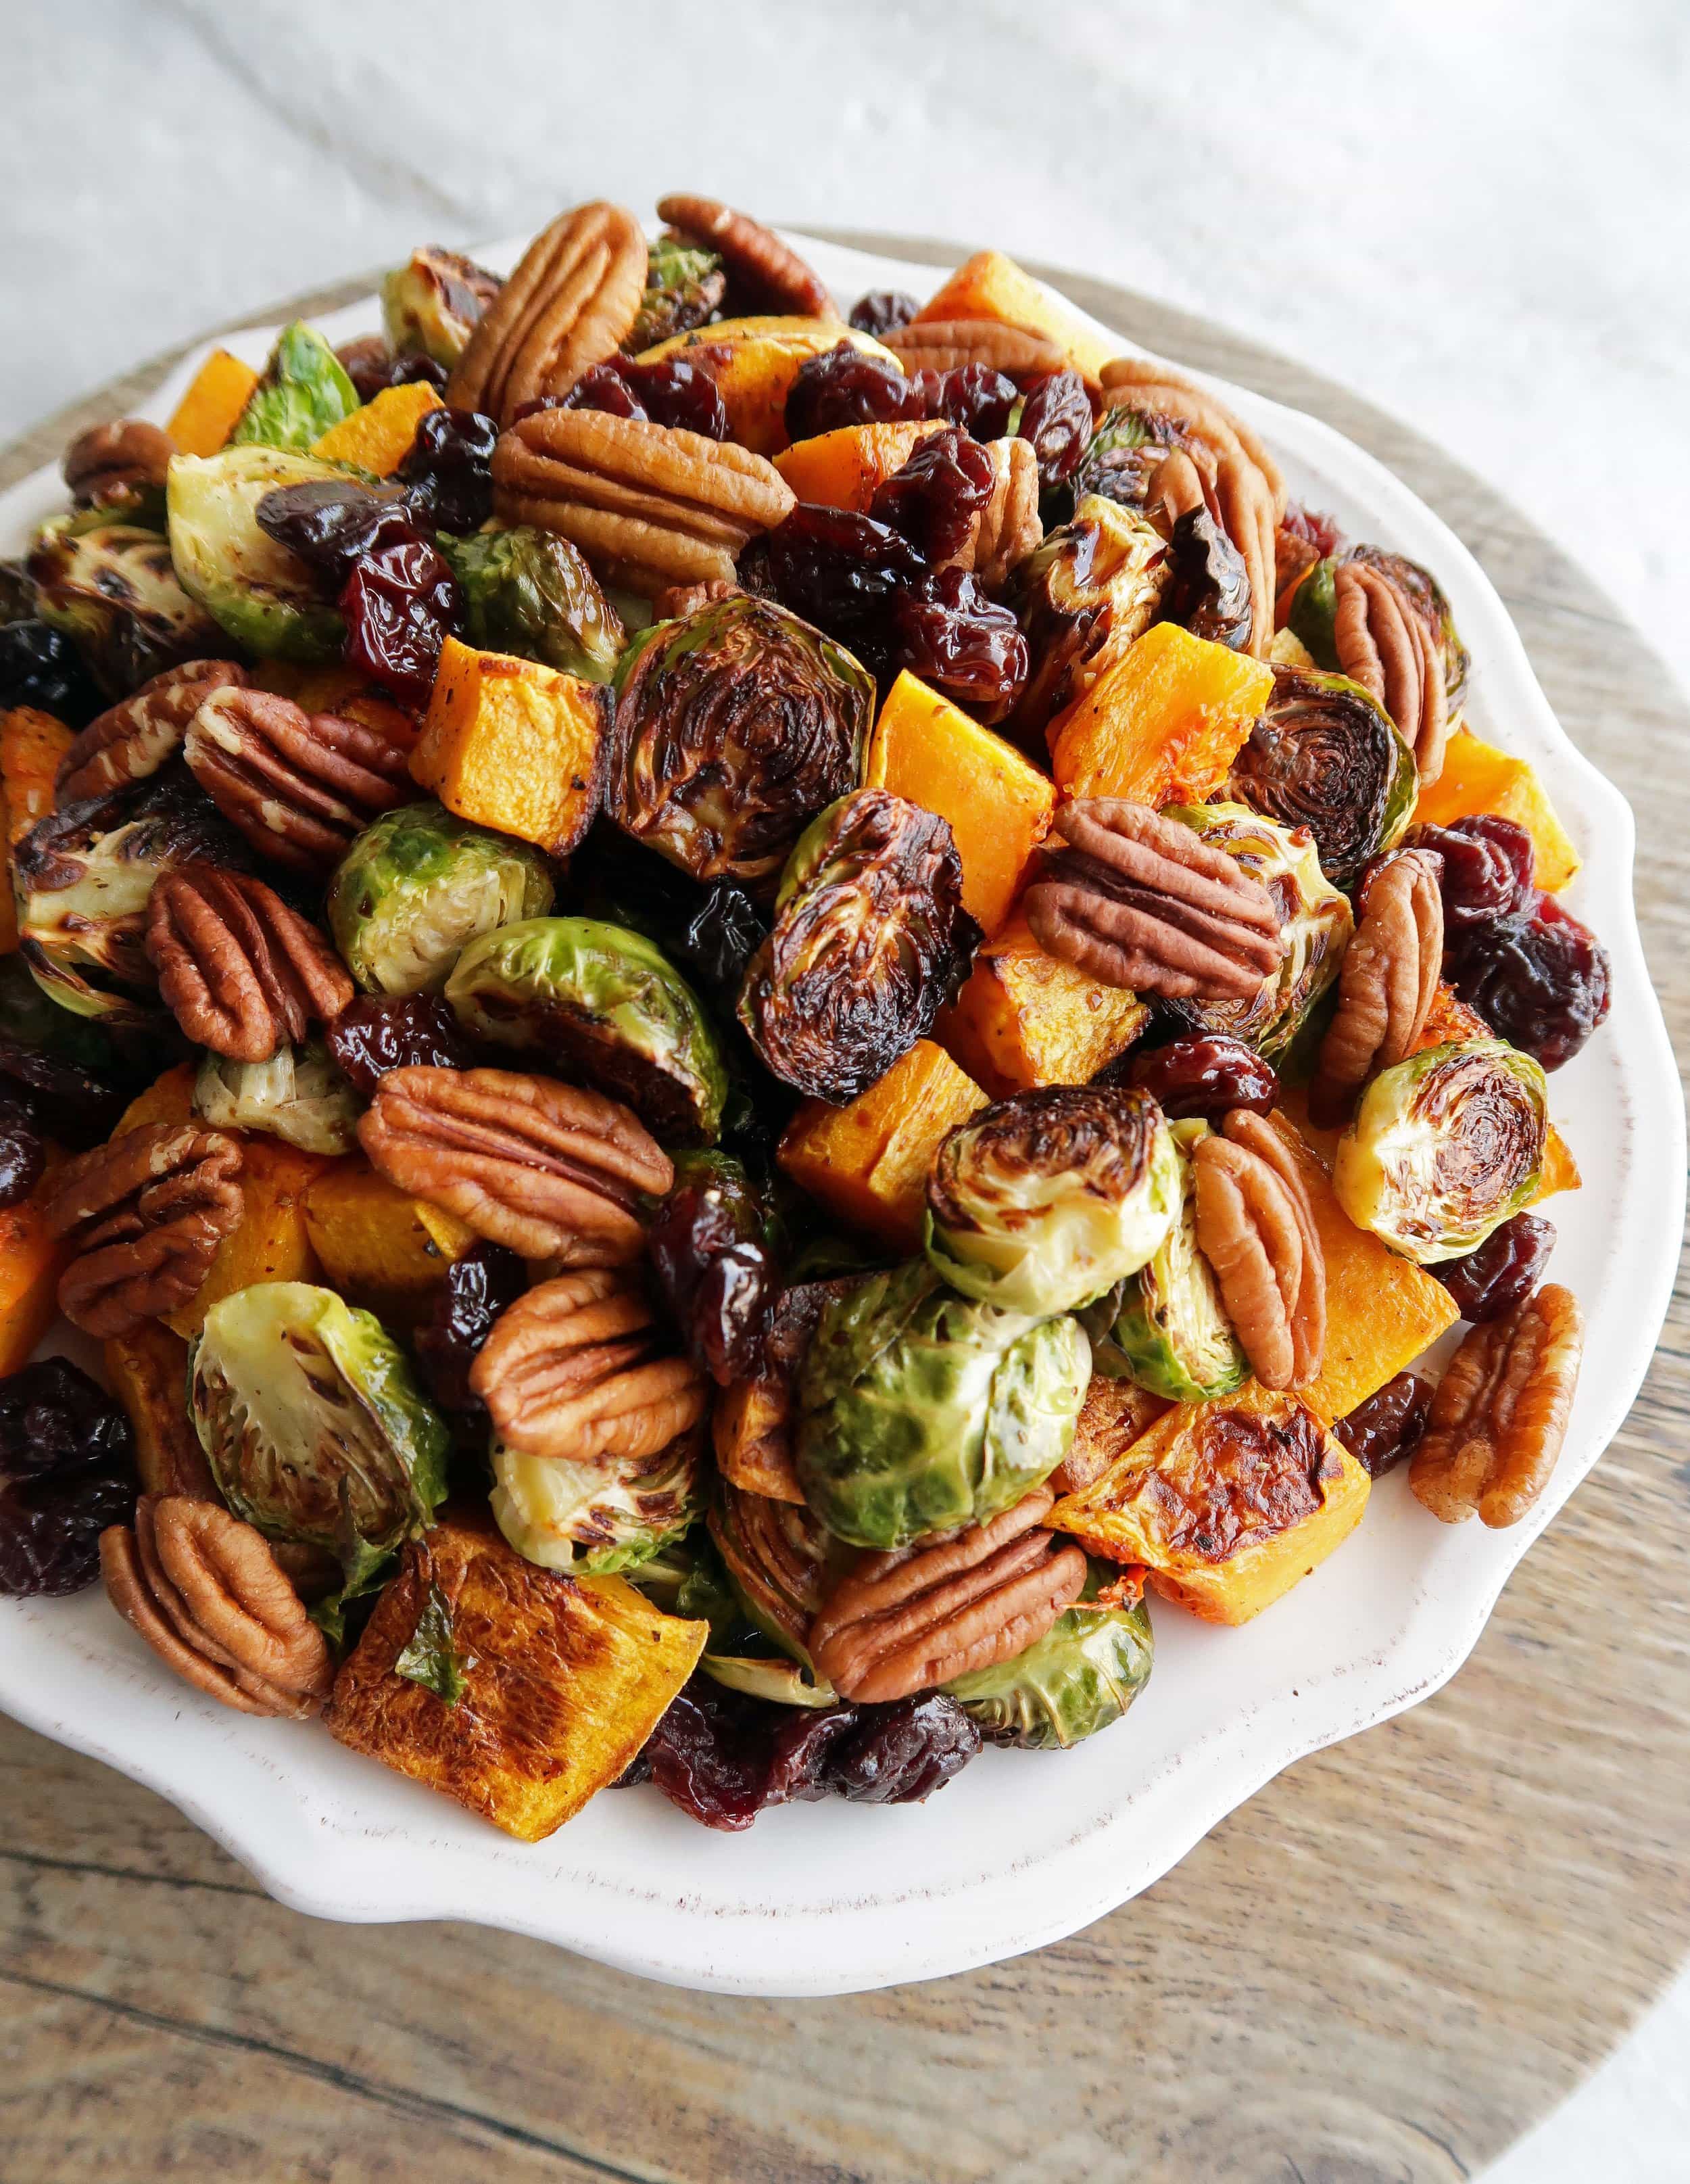
[{"label": "light brown pecan half leaning upright at the top of the pile", "polygon": [[445,400],[500,424],[563,395],[616,354],[646,293],[646,238],[620,205],[561,212],[487,306],[445,382]]}]

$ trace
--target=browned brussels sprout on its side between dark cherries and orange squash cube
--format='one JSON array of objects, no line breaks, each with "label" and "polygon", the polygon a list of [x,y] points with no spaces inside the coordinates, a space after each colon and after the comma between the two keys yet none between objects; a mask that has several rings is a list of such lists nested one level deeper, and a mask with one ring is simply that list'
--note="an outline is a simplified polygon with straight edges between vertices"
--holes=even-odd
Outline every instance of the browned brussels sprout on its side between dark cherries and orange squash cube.
[{"label": "browned brussels sprout on its side between dark cherries and orange squash cube", "polygon": [[1033,673],[1011,725],[1042,736],[1083,697],[1162,609],[1168,542],[1149,515],[1087,494],[1074,520],[1052,531],[1013,572],[1015,609]]}]

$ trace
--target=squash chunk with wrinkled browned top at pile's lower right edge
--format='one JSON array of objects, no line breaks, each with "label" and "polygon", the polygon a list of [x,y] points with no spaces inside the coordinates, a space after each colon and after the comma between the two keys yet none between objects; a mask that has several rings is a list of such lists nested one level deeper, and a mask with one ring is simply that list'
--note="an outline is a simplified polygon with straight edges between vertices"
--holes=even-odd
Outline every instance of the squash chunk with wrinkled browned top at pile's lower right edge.
[{"label": "squash chunk with wrinkled browned top at pile's lower right edge", "polygon": [[1205,1623],[1249,1623],[1325,1562],[1371,1479],[1295,1396],[1247,1380],[1181,1402],[1046,1522]]}]

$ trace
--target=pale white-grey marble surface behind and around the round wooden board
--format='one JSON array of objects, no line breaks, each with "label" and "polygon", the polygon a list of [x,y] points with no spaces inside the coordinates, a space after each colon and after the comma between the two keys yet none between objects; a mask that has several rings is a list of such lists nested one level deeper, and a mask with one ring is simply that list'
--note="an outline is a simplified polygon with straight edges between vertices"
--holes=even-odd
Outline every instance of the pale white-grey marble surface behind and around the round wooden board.
[{"label": "pale white-grey marble surface behind and around the round wooden board", "polygon": [[[699,188],[1275,343],[1686,668],[1686,0],[0,0],[0,439],[413,242]],[[1690,1981],[1489,2184],[1688,2149]]]}]

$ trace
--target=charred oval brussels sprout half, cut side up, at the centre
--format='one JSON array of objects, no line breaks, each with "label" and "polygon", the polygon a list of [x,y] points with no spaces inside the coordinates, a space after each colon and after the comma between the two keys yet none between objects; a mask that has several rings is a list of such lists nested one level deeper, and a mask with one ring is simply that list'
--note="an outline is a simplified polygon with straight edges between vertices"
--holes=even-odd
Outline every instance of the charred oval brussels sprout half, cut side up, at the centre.
[{"label": "charred oval brussels sprout half, cut side up, at the centre", "polygon": [[950,821],[858,788],[788,858],[740,1022],[782,1083],[843,1105],[926,1037],[978,939]]}]

